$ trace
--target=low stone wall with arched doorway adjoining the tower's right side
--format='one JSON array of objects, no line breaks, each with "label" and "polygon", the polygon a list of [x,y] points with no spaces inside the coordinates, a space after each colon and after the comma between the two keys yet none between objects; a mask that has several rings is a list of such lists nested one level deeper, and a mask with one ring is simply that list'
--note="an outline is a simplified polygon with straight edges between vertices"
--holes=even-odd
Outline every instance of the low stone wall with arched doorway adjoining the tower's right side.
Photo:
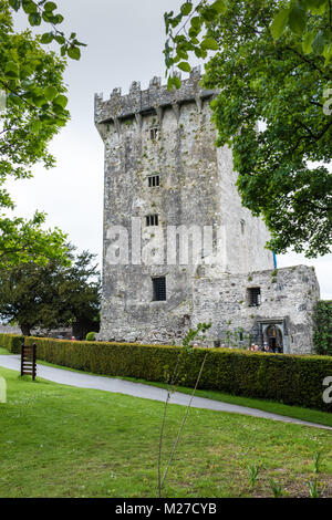
[{"label": "low stone wall with arched doorway adjoining the tower's right side", "polygon": [[[264,326],[277,324],[283,333],[283,352],[310,353],[313,347],[313,308],[320,298],[314,270],[307,266],[195,280],[193,325],[211,322],[209,344],[227,342],[227,331],[236,344],[262,345]],[[250,306],[248,290],[260,288],[261,302]],[[239,329],[247,336],[239,341]],[[249,336],[249,339],[248,339]],[[230,341],[230,346],[232,342]]]}]

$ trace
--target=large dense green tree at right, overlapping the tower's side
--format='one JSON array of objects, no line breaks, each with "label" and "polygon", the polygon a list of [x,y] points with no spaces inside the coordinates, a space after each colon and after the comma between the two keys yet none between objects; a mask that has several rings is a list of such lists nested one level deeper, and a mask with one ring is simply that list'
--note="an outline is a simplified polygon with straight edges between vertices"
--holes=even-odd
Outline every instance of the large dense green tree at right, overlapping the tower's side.
[{"label": "large dense green tree at right, overlapping the tower's side", "polygon": [[[219,92],[212,102],[217,145],[232,147],[242,205],[263,217],[270,249],[317,257],[331,251],[332,233],[331,9],[311,11],[298,29],[289,12],[277,31],[281,8],[289,2],[217,0],[196,9],[185,2],[179,15],[165,14],[165,60],[172,74],[175,66],[190,70],[190,52],[207,58],[218,51],[204,85]],[[323,27],[322,49],[305,31],[319,34]],[[179,83],[169,76],[169,87]]]}]

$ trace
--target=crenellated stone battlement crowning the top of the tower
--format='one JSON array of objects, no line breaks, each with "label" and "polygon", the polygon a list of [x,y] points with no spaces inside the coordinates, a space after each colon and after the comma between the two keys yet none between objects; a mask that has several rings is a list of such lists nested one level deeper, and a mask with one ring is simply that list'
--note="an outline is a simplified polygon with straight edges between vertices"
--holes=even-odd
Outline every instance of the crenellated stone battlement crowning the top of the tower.
[{"label": "crenellated stone battlement crowning the top of the tower", "polygon": [[212,97],[214,90],[203,89],[200,67],[193,69],[189,77],[181,81],[180,89],[170,92],[166,85],[162,85],[160,77],[153,77],[147,90],[141,90],[139,82],[133,82],[129,93],[122,95],[121,89],[114,89],[110,100],[104,101],[103,94],[95,94],[95,123],[112,123],[116,119],[156,113],[160,118],[160,111],[166,107],[179,106],[195,101],[197,108],[201,110],[204,98]]}]

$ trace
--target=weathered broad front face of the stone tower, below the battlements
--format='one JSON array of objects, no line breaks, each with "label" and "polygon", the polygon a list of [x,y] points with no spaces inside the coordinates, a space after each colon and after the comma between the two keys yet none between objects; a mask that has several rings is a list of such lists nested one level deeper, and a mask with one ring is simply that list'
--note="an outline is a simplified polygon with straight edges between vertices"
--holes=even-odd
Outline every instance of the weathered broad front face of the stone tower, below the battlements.
[{"label": "weathered broad front face of the stone tower, below the battlements", "polygon": [[[152,141],[149,131],[155,124],[155,114],[144,116],[141,129],[135,121],[121,123],[121,138],[111,126],[105,142],[103,339],[167,343],[183,336],[191,313],[191,278],[197,266],[167,262],[166,227],[209,226],[219,215],[209,104],[204,102],[198,112],[195,103],[187,103],[179,124],[174,110],[165,108],[160,136]],[[158,188],[148,187],[151,173],[159,175]],[[155,212],[159,226],[146,227],[145,216]],[[133,218],[141,225],[142,262],[133,264],[129,256],[128,264],[114,266],[110,262],[110,229],[118,225],[127,229],[132,250]],[[152,301],[152,278],[159,275],[167,280],[165,302]]]}]

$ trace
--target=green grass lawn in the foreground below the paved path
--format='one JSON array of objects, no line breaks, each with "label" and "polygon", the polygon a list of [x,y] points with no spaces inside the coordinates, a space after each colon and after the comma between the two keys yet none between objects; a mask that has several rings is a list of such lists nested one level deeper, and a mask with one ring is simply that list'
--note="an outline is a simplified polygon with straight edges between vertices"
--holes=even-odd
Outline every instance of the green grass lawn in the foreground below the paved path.
[{"label": "green grass lawn in the foreground below the paved path", "polygon": [[[20,378],[0,367],[0,497],[156,497],[163,403]],[[164,464],[185,408],[170,405]],[[331,431],[190,409],[164,497],[308,497],[313,457],[332,496]],[[261,465],[249,483],[248,466]]]}]

